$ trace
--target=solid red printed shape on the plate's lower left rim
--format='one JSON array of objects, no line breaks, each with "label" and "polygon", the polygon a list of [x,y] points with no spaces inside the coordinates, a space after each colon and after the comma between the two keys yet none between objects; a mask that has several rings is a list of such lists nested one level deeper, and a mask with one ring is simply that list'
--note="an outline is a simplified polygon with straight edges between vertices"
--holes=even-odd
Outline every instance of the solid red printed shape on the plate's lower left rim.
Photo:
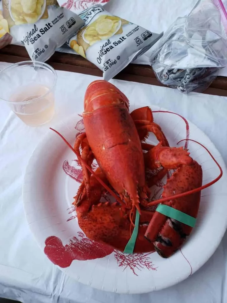
[{"label": "solid red printed shape on the plate's lower left rim", "polygon": [[85,261],[104,258],[113,252],[112,247],[86,238],[83,232],[79,231],[77,234],[78,238],[73,237],[70,243],[65,246],[58,237],[48,237],[45,241],[45,255],[55,265],[66,268],[71,265],[73,260]]}]

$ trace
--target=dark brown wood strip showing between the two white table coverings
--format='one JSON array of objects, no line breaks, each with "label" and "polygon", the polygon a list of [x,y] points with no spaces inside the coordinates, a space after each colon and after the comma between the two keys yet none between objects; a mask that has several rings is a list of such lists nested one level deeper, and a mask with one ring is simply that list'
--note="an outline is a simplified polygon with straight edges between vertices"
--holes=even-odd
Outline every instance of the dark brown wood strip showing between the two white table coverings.
[{"label": "dark brown wood strip showing between the two white table coverings", "polygon": [[[15,63],[26,60],[30,60],[30,58],[23,46],[8,45],[5,48],[0,49],[0,61],[2,62]],[[79,55],[55,52],[47,63],[58,70],[102,77],[100,69]],[[153,70],[149,65],[130,64],[115,78],[164,86],[156,79]],[[227,96],[227,77],[218,76],[204,93]]]}]

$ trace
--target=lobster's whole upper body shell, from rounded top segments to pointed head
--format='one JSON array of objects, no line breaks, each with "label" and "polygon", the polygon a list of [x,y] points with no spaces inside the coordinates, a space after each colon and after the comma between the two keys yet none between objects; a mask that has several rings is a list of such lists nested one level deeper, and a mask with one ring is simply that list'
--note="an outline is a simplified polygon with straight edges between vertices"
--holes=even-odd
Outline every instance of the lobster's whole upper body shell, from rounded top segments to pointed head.
[{"label": "lobster's whole upper body shell, from rounded top segments to pointed head", "polygon": [[145,169],[127,97],[109,82],[94,81],[84,97],[83,118],[89,146],[110,185],[139,208],[138,191],[146,197]]}]

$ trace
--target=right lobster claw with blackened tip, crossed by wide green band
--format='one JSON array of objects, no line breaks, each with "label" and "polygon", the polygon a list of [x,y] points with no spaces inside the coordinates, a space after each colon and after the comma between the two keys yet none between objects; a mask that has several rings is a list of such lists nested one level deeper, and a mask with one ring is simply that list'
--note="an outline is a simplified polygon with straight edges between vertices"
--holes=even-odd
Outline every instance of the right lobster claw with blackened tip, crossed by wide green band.
[{"label": "right lobster claw with blackened tip, crossed by wide green band", "polygon": [[[196,161],[193,161],[191,165],[182,165],[173,173],[164,186],[162,198],[178,195],[200,186],[202,186],[202,168]],[[163,204],[196,218],[200,193],[198,191]],[[168,258],[181,247],[191,231],[192,227],[155,211],[146,230],[145,238],[153,242],[154,248],[160,256]]]}]

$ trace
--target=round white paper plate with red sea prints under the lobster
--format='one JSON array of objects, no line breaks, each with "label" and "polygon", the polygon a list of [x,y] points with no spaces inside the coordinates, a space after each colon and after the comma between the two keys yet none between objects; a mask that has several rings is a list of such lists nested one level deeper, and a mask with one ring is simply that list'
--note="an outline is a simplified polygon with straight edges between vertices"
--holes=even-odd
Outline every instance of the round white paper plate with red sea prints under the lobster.
[{"label": "round white paper plate with red sea prints under the lobster", "polygon": [[[153,111],[164,110],[157,106],[151,108]],[[202,191],[192,234],[182,249],[168,259],[161,258],[156,252],[124,255],[85,237],[71,205],[79,187],[77,181],[82,178],[81,169],[75,161],[76,156],[57,134],[49,131],[29,160],[23,200],[32,233],[43,251],[46,246],[46,254],[53,263],[60,265],[62,271],[94,288],[131,294],[174,285],[211,257],[225,233],[227,178],[219,152],[202,131],[183,117],[165,112],[153,115],[170,146],[176,146],[186,137],[194,139],[211,151],[223,169],[223,177]],[[73,145],[75,135],[84,132],[81,119],[75,114],[55,129]],[[149,139],[154,142],[153,134]],[[219,175],[217,165],[204,148],[194,142],[189,142],[188,148],[191,156],[202,165],[203,184]]]}]

